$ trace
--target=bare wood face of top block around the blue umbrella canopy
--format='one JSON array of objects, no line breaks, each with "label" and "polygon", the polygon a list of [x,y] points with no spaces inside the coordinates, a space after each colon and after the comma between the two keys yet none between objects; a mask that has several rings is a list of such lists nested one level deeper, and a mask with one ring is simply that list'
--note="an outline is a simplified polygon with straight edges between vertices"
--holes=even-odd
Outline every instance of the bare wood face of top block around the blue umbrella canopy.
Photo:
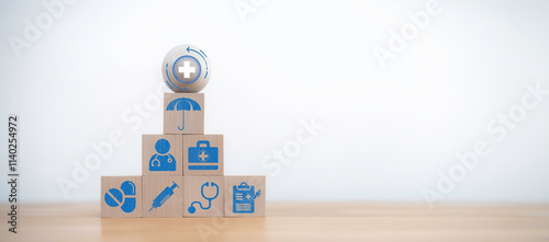
[{"label": "bare wood face of top block around the blue umbrella canopy", "polygon": [[[177,99],[194,100],[201,107],[200,111],[166,111],[168,104]],[[204,93],[164,93],[164,134],[204,134]],[[184,128],[183,114],[184,112]],[[183,128],[179,130],[178,127]]]}]

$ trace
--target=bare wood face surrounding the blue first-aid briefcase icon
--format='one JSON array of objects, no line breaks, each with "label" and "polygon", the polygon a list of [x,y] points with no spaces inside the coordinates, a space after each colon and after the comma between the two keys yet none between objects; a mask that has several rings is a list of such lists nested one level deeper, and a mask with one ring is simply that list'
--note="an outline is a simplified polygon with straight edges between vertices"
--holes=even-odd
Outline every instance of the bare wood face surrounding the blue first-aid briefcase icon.
[{"label": "bare wood face surrounding the blue first-aid briefcase icon", "polygon": [[[204,147],[198,141],[209,141],[211,148],[217,148],[217,170],[189,170],[189,148]],[[195,165],[197,163],[191,163]],[[211,164],[209,164],[211,165]],[[184,176],[222,176],[224,174],[223,135],[183,135],[183,175]]]}]

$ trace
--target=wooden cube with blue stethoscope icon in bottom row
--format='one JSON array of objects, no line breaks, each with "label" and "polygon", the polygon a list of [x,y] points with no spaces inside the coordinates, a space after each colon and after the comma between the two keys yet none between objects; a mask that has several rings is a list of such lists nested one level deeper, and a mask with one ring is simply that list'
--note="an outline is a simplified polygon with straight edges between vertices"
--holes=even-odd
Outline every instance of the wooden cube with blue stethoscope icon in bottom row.
[{"label": "wooden cube with blue stethoscope icon in bottom row", "polygon": [[223,176],[183,176],[184,217],[223,217]]}]

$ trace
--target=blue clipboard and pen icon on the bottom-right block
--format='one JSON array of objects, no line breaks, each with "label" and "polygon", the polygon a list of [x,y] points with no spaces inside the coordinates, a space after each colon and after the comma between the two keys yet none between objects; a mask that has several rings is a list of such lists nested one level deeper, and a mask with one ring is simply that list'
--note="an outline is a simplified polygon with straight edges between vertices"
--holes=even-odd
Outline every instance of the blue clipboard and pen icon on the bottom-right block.
[{"label": "blue clipboard and pen icon on the bottom-right block", "polygon": [[254,214],[256,210],[255,200],[261,195],[261,189],[254,193],[256,187],[240,183],[239,186],[233,186],[233,212]]}]

